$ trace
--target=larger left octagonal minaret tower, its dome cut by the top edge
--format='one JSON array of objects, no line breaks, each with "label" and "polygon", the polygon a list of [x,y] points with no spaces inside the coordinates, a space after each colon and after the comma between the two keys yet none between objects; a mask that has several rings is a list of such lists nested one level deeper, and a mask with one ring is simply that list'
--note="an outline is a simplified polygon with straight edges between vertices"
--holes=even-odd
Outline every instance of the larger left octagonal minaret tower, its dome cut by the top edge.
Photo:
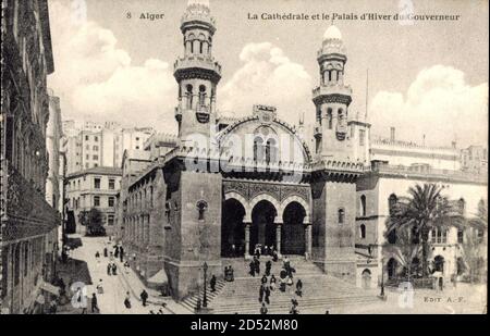
[{"label": "larger left octagonal minaret tower, its dome cut by the top edge", "polygon": [[212,57],[216,22],[209,1],[188,1],[182,16],[181,32],[184,57],[175,61],[173,74],[179,83],[175,119],[182,144],[193,146],[196,141],[201,142],[203,136],[208,139],[213,137],[216,91],[221,79],[221,65]]}]

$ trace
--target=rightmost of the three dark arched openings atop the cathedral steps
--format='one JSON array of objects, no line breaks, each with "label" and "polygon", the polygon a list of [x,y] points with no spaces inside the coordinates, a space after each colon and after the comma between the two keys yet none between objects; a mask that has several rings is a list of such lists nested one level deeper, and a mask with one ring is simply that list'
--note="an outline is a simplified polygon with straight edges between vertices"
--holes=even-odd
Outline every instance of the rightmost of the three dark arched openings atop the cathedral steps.
[{"label": "rightmost of the three dark arched openings atop the cathedral steps", "polygon": [[305,254],[305,208],[298,202],[285,207],[282,220],[281,249],[282,254]]}]

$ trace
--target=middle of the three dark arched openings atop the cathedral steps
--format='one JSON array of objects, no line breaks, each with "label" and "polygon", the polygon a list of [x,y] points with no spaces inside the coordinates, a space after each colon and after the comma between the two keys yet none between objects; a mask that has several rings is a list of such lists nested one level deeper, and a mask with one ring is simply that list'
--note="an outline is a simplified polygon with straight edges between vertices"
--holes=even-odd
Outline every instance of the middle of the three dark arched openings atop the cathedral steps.
[{"label": "middle of the three dark arched openings atop the cathedral steps", "polygon": [[275,224],[278,212],[274,206],[267,201],[259,201],[252,210],[250,252],[255,246],[273,246],[275,248]]}]

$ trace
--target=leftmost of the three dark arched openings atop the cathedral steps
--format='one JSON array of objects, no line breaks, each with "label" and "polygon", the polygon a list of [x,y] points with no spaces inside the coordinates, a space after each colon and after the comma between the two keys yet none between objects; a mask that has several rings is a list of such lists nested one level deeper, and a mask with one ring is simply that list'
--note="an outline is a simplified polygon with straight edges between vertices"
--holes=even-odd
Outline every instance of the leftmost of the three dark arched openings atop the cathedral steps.
[{"label": "leftmost of the three dark arched openings atop the cathedral steps", "polygon": [[231,198],[224,201],[221,214],[221,257],[243,257],[245,251],[245,209]]}]

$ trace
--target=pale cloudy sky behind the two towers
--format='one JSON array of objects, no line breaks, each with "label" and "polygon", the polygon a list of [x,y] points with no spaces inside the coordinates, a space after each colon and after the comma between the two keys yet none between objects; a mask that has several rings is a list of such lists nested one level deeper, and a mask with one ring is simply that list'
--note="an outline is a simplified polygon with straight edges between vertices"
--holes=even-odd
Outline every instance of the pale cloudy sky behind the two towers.
[{"label": "pale cloudy sky behind the two towers", "polygon": [[[203,0],[199,0],[203,1]],[[333,24],[347,50],[350,115],[368,112],[372,134],[427,145],[488,141],[488,1],[210,0],[213,55],[222,65],[218,110],[272,104],[291,124],[315,120],[316,60]],[[176,133],[173,63],[183,54],[185,0],[49,1],[63,120],[118,121]],[[460,15],[455,21],[360,20],[363,14]],[[131,13],[131,18],[128,18]],[[160,20],[142,13],[163,14]],[[252,14],[328,14],[326,20],[249,20]],[[357,17],[355,17],[357,16]],[[369,78],[367,80],[367,73]],[[367,109],[366,109],[367,104]]]}]

